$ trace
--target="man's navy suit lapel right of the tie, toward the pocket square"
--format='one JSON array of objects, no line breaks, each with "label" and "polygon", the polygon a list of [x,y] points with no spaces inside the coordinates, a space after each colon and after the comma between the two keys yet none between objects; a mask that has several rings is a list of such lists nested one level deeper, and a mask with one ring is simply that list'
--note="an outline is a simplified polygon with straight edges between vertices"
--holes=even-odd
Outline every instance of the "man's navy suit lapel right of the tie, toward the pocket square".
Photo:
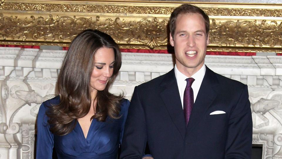
[{"label": "man's navy suit lapel right of the tie, toward the pocket square", "polygon": [[217,81],[215,73],[206,67],[206,73],[189,118],[186,135],[188,135],[191,130],[198,125],[199,121],[216,98],[216,86],[218,85],[219,82]]}]

